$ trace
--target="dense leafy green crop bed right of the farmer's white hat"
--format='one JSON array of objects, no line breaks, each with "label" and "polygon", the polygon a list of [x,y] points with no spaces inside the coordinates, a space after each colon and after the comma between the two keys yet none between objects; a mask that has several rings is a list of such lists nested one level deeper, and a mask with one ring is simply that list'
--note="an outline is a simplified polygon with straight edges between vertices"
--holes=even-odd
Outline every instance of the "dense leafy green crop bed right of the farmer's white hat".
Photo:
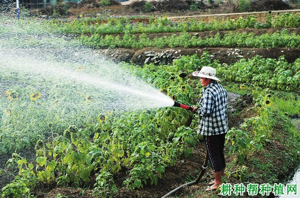
[{"label": "dense leafy green crop bed right of the farmer's white hat", "polygon": [[[230,65],[222,65],[217,69],[227,80],[237,83],[251,82],[252,85],[282,91],[299,91],[300,59],[288,63],[284,57],[241,59]],[[241,86],[242,88],[243,86]]]}]

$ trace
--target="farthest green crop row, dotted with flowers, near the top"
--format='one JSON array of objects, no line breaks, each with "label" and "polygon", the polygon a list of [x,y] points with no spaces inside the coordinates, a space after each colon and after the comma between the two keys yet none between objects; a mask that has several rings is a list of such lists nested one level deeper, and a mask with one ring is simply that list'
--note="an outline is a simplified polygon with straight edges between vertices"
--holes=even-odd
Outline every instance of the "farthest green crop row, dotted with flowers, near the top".
[{"label": "farthest green crop row, dotted with flowers, near the top", "polygon": [[200,32],[211,30],[236,30],[240,28],[297,28],[300,27],[300,14],[269,14],[264,23],[257,21],[253,15],[237,20],[214,20],[210,23],[188,19],[174,22],[166,17],[149,19],[148,22],[134,22],[128,18],[102,19],[80,18],[73,21],[52,21],[51,26],[59,33],[68,34],[124,34],[128,33],[162,33],[162,32]]}]

